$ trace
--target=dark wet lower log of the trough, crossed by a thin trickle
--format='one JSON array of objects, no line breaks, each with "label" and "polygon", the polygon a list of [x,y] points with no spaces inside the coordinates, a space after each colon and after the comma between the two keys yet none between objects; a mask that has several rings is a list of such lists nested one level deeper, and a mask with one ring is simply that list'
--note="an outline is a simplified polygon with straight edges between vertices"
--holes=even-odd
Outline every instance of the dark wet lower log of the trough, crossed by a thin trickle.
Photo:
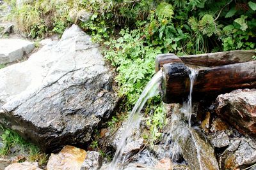
[{"label": "dark wet lower log of the trough, crossed by a thin trickle", "polygon": [[[164,64],[161,85],[164,103],[182,103],[189,95],[190,69],[182,62]],[[193,101],[211,99],[234,89],[256,88],[256,61],[200,69],[193,86]]]}]

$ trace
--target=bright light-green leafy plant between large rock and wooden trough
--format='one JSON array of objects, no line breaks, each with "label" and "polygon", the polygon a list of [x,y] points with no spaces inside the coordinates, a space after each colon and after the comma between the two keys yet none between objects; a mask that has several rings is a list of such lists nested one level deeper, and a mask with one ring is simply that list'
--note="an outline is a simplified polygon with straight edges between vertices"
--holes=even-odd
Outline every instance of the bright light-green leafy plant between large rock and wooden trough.
[{"label": "bright light-green leafy plant between large rock and wooden trough", "polygon": [[144,46],[141,32],[122,29],[120,38],[110,39],[105,45],[106,59],[117,67],[116,81],[120,96],[127,97],[127,104],[136,103],[143,87],[154,74],[154,59],[161,50]]}]

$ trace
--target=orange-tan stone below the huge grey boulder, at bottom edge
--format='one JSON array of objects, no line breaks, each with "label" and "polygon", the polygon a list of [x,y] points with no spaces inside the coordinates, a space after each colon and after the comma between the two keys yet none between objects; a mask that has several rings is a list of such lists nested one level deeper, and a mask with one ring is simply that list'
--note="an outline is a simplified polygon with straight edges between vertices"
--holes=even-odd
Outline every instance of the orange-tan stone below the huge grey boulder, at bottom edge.
[{"label": "orange-tan stone below the huge grey boulder, at bottom edge", "polygon": [[85,158],[85,150],[67,145],[64,146],[60,153],[56,155],[54,153],[51,154],[51,157],[49,158],[49,161],[47,163],[47,170],[80,170]]}]

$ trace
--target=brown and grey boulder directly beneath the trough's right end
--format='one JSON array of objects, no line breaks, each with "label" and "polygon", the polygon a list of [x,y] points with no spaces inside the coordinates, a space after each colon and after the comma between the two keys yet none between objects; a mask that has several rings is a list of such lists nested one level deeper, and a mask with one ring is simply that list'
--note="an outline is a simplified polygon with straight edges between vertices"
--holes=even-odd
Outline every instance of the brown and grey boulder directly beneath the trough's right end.
[{"label": "brown and grey boulder directly beneath the trough's right end", "polygon": [[239,132],[256,136],[256,89],[221,94],[216,105],[216,113]]}]

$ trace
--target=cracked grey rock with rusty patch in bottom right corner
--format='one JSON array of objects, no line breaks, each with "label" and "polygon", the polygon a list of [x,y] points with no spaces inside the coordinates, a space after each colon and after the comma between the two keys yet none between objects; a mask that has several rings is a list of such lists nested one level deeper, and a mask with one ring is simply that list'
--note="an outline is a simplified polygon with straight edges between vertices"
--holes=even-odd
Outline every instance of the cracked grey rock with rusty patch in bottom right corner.
[{"label": "cracked grey rock with rusty patch in bottom right corner", "polygon": [[222,169],[244,169],[256,163],[255,138],[240,138],[231,141],[231,145],[221,157]]}]

